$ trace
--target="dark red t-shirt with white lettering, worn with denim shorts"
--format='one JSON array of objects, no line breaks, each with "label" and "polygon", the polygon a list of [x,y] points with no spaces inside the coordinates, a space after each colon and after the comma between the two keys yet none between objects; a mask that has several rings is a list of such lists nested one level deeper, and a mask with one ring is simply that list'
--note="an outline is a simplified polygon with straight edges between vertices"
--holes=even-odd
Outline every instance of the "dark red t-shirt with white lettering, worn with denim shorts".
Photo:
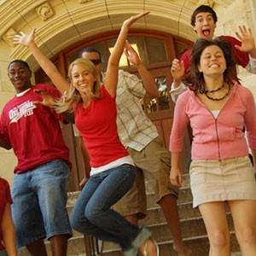
[{"label": "dark red t-shirt with white lettering, worn with denim shorts", "polygon": [[0,133],[11,144],[18,159],[15,173],[26,172],[58,158],[66,160],[71,166],[59,123],[63,122],[62,116],[53,108],[33,105],[34,101],[42,101],[34,89],[46,90],[60,97],[55,87],[36,84],[22,96],[14,96],[4,106]]}]

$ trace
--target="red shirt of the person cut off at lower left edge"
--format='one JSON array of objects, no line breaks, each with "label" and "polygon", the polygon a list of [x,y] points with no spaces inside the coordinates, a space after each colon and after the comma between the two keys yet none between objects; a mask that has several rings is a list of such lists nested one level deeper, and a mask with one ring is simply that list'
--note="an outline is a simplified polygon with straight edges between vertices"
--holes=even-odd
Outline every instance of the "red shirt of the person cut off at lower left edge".
[{"label": "red shirt of the person cut off at lower left edge", "polygon": [[0,177],[0,251],[4,250],[3,243],[2,243],[2,218],[5,206],[7,203],[11,204],[13,201],[11,199],[10,190],[9,190],[9,183]]}]

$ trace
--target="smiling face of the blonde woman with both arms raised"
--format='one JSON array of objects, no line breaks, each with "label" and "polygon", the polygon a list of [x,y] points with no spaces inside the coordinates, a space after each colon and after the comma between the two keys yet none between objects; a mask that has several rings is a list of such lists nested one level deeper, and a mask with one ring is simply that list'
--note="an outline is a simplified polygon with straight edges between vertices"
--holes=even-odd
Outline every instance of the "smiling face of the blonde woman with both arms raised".
[{"label": "smiling face of the blonde woman with both arms raised", "polygon": [[80,94],[93,91],[96,82],[96,74],[84,63],[74,64],[71,70],[71,81]]}]

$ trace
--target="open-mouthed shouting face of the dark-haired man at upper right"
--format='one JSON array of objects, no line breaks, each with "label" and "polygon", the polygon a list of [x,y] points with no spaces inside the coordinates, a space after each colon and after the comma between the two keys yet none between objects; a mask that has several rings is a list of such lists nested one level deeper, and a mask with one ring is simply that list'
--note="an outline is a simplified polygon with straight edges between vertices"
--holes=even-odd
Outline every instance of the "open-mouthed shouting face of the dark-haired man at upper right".
[{"label": "open-mouthed shouting face of the dark-haired man at upper right", "polygon": [[201,12],[195,16],[195,26],[193,26],[198,38],[212,39],[216,24],[211,13]]}]

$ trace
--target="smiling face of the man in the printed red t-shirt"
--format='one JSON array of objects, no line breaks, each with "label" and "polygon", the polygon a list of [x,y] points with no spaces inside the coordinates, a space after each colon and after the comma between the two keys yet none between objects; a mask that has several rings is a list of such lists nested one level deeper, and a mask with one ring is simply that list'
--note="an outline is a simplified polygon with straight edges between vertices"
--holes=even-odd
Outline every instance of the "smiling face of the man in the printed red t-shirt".
[{"label": "smiling face of the man in the printed red t-shirt", "polygon": [[9,65],[8,76],[17,93],[32,87],[30,80],[32,72],[20,62],[13,62]]}]

